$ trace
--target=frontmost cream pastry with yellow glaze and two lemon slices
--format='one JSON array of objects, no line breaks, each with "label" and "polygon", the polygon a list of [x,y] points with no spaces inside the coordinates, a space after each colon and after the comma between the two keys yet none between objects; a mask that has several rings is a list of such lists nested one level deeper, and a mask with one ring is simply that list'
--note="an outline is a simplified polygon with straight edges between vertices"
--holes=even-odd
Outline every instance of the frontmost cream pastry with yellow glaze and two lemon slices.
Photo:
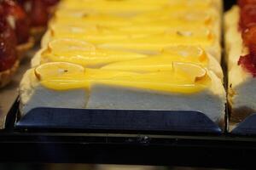
[{"label": "frontmost cream pastry with yellow glaze and two lemon slices", "polygon": [[65,62],[39,65],[20,83],[20,111],[24,115],[42,106],[201,111],[222,122],[225,93],[220,79],[200,65],[172,65],[170,71],[150,73],[84,69]]}]

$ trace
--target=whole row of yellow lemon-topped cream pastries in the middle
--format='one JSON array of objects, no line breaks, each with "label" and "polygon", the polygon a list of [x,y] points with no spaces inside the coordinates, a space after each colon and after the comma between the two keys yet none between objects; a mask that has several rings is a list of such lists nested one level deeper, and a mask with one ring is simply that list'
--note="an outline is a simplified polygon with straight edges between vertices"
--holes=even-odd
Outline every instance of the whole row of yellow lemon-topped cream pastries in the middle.
[{"label": "whole row of yellow lemon-topped cream pastries in the middle", "polygon": [[220,0],[62,0],[20,83],[36,107],[201,111],[224,121]]}]

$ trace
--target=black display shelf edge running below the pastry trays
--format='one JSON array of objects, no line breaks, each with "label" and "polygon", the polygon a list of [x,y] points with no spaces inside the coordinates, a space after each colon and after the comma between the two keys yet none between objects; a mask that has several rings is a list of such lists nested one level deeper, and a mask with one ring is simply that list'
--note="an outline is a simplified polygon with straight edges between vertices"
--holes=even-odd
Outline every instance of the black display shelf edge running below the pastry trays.
[{"label": "black display shelf edge running below the pastry trays", "polygon": [[[224,1],[230,8],[235,1]],[[106,163],[189,167],[254,167],[256,136],[227,132],[37,129],[20,124],[16,101],[0,133],[2,162]],[[253,123],[252,123],[253,124]],[[23,126],[23,127],[22,127]],[[256,131],[255,131],[256,132]]]}]

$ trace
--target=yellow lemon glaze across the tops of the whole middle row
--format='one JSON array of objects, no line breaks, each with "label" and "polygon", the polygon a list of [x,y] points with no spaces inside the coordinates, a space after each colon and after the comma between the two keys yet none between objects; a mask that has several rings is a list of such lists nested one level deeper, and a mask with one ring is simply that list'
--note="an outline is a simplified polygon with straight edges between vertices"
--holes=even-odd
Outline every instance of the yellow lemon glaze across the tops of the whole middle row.
[{"label": "yellow lemon glaze across the tops of the whole middle row", "polygon": [[[46,88],[96,83],[166,93],[211,85],[217,0],[63,0],[35,76]],[[45,47],[45,46],[44,46]]]}]

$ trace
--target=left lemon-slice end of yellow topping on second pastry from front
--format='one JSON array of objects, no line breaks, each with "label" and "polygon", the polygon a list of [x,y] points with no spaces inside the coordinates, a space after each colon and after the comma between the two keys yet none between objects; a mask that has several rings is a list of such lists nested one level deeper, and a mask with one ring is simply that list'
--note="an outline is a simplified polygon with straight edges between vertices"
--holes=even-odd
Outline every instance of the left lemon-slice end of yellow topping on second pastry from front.
[{"label": "left lemon-slice end of yellow topping on second pastry from front", "polygon": [[84,67],[99,67],[109,63],[148,57],[125,51],[100,49],[94,45],[74,40],[58,39],[49,42],[48,48],[41,54],[41,63],[66,61]]}]

